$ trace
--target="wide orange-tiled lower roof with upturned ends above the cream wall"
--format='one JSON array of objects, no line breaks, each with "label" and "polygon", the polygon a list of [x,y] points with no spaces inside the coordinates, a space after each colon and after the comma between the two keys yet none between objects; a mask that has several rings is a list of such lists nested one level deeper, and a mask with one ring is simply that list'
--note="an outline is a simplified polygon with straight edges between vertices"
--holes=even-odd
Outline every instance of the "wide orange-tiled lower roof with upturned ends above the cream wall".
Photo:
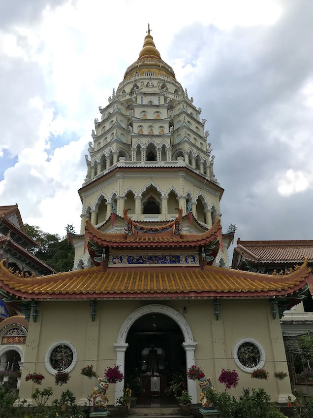
[{"label": "wide orange-tiled lower roof with upturned ends above the cream wall", "polygon": [[[40,278],[12,275],[0,262],[2,295],[22,300],[117,299],[292,299],[313,288],[308,262],[287,276],[270,276],[221,267],[101,267]],[[294,304],[294,302],[293,302]]]}]

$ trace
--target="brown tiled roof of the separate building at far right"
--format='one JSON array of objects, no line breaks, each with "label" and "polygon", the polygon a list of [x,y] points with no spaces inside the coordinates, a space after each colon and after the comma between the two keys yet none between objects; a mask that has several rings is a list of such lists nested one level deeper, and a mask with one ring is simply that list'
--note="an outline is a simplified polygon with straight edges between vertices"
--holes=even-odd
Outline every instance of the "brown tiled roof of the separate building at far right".
[{"label": "brown tiled roof of the separate building at far right", "polygon": [[313,262],[313,240],[289,241],[241,241],[237,240],[234,251],[233,268],[240,264],[240,258],[253,264],[293,264],[302,263],[306,257]]}]

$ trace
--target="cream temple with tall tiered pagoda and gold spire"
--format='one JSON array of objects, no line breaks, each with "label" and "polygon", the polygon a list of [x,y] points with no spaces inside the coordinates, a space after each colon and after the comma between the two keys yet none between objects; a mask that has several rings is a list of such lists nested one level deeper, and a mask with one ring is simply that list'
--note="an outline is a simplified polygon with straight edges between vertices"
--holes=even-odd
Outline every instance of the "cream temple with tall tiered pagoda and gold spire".
[{"label": "cream temple with tall tiered pagoda and gold spire", "polygon": [[[117,364],[125,381],[140,378],[143,396],[162,397],[171,375],[195,364],[218,390],[221,369],[236,369],[235,396],[259,387],[251,373],[264,367],[264,388],[286,402],[289,379],[273,377],[288,371],[280,315],[312,288],[311,269],[306,259],[283,277],[229,267],[235,227],[222,232],[223,189],[206,119],[149,28],[138,59],[99,112],[78,190],[81,230],[68,228],[73,270],[20,278],[0,264],[2,299],[30,313],[20,398],[31,402],[28,373],[42,373],[43,384],[53,386],[62,369],[84,404],[96,383],[80,374],[89,364],[99,376]],[[109,386],[109,403],[123,385]],[[188,392],[199,401],[195,381],[188,380]]]}]

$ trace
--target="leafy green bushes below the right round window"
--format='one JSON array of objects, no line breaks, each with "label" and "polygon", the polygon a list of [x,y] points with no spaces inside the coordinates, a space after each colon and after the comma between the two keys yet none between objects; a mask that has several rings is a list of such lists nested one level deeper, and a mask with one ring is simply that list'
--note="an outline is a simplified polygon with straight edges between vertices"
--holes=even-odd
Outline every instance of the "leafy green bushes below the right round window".
[{"label": "leafy green bushes below the right round window", "polygon": [[219,411],[221,418],[284,418],[284,415],[270,402],[271,397],[264,389],[244,389],[236,399],[227,392],[206,390],[206,398]]}]

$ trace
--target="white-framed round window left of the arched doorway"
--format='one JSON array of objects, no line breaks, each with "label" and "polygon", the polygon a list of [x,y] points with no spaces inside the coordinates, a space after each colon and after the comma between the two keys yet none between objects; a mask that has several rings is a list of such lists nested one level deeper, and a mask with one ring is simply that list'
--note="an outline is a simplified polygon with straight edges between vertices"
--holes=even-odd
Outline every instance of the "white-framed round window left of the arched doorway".
[{"label": "white-framed round window left of the arched doorway", "polygon": [[67,341],[53,344],[45,355],[45,366],[49,373],[56,375],[59,370],[70,372],[77,361],[76,348]]}]

